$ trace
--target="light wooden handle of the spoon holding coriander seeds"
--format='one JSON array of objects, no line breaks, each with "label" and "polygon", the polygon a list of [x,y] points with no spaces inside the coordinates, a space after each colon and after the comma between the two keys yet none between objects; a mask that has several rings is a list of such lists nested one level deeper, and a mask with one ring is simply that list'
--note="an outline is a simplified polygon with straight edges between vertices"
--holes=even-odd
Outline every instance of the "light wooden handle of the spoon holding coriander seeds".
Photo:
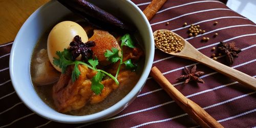
[{"label": "light wooden handle of the spoon holding coriander seeds", "polygon": [[[250,89],[256,90],[256,79],[242,73],[236,69],[232,69],[228,66],[223,65],[222,63],[213,60],[201,52],[191,52],[192,54],[189,55],[189,57],[195,61],[198,61],[200,63],[203,63],[204,65],[216,70],[217,72],[226,75],[234,80],[237,80],[238,82],[242,83],[243,85],[247,86]],[[193,54],[194,53],[194,54]]]}]

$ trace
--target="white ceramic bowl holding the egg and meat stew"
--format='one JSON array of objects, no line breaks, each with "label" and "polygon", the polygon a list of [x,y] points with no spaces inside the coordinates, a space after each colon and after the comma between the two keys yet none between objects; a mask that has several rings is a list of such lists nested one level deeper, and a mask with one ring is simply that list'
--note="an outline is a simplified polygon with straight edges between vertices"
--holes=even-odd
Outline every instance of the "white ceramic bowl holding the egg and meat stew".
[{"label": "white ceramic bowl holding the egg and meat stew", "polygon": [[43,102],[35,92],[30,79],[30,59],[33,49],[46,30],[51,29],[59,19],[71,12],[57,1],[51,1],[37,9],[20,28],[10,55],[10,75],[13,87],[20,99],[38,115],[47,119],[64,123],[91,122],[105,119],[122,111],[140,93],[147,76],[150,73],[154,58],[154,38],[150,24],[142,11],[129,0],[94,0],[93,3],[101,8],[107,8],[112,13],[119,13],[131,20],[138,28],[145,47],[145,65],[143,73],[134,87],[122,100],[101,112],[72,116],[58,113]]}]

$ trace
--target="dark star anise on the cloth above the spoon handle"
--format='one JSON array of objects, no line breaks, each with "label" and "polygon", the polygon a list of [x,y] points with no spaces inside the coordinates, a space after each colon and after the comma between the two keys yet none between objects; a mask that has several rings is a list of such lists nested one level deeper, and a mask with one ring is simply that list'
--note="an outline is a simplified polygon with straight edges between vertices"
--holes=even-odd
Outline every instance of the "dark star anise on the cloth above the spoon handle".
[{"label": "dark star anise on the cloth above the spoon handle", "polygon": [[228,65],[232,65],[234,57],[238,57],[238,53],[241,52],[240,48],[236,48],[235,42],[224,43],[221,41],[218,45],[218,50],[222,54],[226,55],[226,61],[228,62]]}]

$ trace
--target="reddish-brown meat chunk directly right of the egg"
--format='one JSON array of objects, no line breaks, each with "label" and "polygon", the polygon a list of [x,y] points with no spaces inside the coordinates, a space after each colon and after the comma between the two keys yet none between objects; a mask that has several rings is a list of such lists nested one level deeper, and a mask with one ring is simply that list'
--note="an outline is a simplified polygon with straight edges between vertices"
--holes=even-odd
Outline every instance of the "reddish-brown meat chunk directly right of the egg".
[{"label": "reddish-brown meat chunk directly right of the egg", "polygon": [[109,65],[110,62],[106,60],[106,57],[104,56],[104,53],[106,50],[111,50],[112,48],[120,49],[120,46],[118,45],[118,41],[116,38],[111,35],[107,31],[103,30],[94,30],[93,36],[89,39],[89,41],[94,41],[96,46],[92,47],[93,53],[96,55],[96,57],[99,60],[99,63],[102,66]]}]

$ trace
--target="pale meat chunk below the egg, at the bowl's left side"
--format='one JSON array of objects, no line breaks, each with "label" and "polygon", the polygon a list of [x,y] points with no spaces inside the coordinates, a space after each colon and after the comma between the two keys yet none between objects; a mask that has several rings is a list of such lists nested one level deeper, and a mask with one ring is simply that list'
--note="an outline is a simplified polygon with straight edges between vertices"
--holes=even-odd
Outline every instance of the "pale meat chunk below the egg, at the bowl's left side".
[{"label": "pale meat chunk below the egg, at the bowl's left side", "polygon": [[46,49],[41,49],[36,54],[36,59],[32,61],[34,62],[32,68],[36,71],[33,74],[34,77],[32,77],[35,85],[44,86],[58,80],[60,74],[53,68]]}]

